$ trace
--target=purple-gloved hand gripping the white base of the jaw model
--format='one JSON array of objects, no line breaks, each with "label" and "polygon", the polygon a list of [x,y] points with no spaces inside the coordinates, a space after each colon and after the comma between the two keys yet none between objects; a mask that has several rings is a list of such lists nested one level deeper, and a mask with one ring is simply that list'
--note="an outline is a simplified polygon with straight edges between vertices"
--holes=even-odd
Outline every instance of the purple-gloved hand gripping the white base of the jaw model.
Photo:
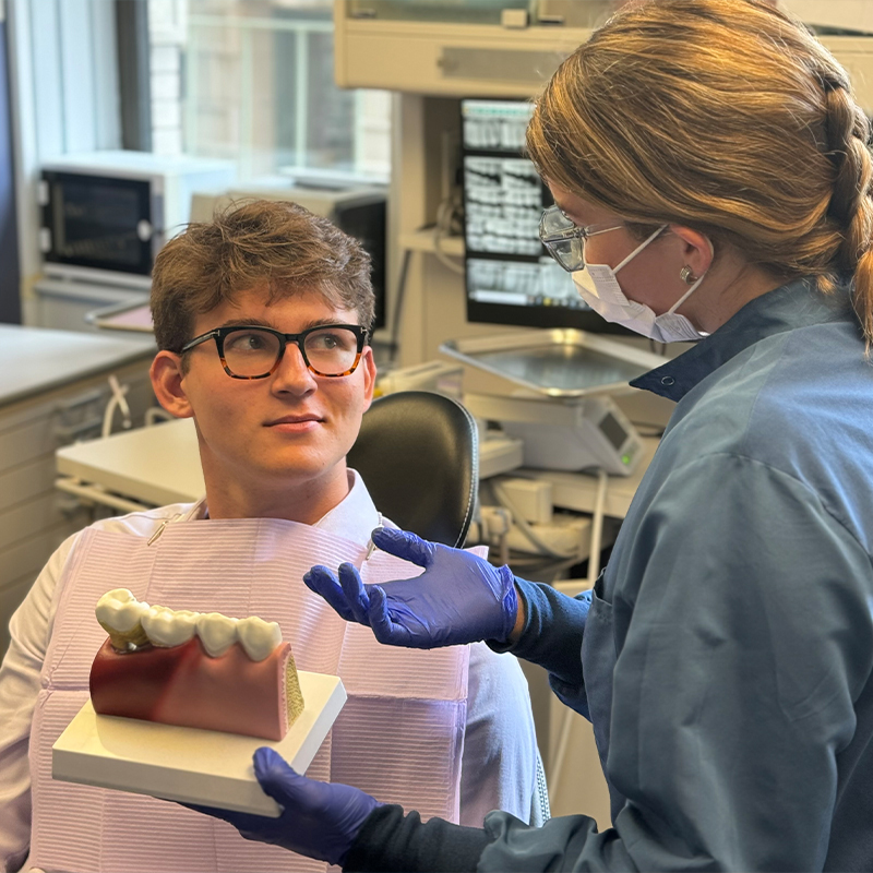
[{"label": "purple-gloved hand gripping the white base of the jaw model", "polygon": [[229,822],[246,839],[282,846],[307,858],[342,865],[370,813],[382,804],[349,785],[319,782],[295,773],[268,746],[254,753],[254,775],[280,806],[278,818],[186,803]]}]

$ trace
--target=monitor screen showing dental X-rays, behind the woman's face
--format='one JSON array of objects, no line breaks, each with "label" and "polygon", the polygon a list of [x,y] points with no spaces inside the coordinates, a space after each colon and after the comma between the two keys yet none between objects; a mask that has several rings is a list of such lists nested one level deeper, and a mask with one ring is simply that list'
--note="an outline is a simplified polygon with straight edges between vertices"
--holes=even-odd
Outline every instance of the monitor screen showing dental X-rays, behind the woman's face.
[{"label": "monitor screen showing dental X-rays, behind the woman's face", "polygon": [[533,111],[528,100],[461,101],[467,320],[627,334],[582,300],[539,241],[552,199],[523,156]]}]

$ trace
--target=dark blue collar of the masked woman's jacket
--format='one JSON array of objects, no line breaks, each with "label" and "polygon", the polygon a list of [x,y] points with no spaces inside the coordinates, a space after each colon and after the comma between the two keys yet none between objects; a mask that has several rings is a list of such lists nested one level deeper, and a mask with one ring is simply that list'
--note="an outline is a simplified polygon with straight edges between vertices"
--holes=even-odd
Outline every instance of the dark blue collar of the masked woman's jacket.
[{"label": "dark blue collar of the masked woman's jacket", "polygon": [[814,278],[797,279],[751,300],[710,336],[631,385],[678,402],[721,364],[768,336],[854,318],[848,285],[825,295]]}]

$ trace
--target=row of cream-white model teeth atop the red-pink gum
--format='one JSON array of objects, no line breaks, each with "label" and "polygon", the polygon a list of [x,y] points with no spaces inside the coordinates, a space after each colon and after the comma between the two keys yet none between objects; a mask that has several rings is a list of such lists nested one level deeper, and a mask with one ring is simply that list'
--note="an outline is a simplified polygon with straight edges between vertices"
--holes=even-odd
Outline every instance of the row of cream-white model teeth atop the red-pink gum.
[{"label": "row of cream-white model teeth atop the red-pink gum", "polygon": [[127,588],[105,594],[96,608],[97,621],[109,634],[113,648],[129,651],[151,643],[171,648],[181,646],[194,634],[212,657],[224,655],[239,643],[254,661],[266,658],[282,643],[282,630],[274,621],[256,615],[231,619],[220,612],[192,612],[139,601]]}]

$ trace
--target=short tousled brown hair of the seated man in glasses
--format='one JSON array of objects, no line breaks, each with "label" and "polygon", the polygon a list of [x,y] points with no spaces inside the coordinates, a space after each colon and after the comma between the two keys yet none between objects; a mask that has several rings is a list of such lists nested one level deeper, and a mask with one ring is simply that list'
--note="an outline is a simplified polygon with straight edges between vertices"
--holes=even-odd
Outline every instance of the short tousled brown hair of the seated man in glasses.
[{"label": "short tousled brown hair of the seated man in glasses", "polygon": [[230,204],[192,223],[155,259],[152,318],[158,348],[178,352],[194,318],[266,283],[271,298],[318,290],[370,327],[375,298],[370,255],[326,218],[296,203]]}]

